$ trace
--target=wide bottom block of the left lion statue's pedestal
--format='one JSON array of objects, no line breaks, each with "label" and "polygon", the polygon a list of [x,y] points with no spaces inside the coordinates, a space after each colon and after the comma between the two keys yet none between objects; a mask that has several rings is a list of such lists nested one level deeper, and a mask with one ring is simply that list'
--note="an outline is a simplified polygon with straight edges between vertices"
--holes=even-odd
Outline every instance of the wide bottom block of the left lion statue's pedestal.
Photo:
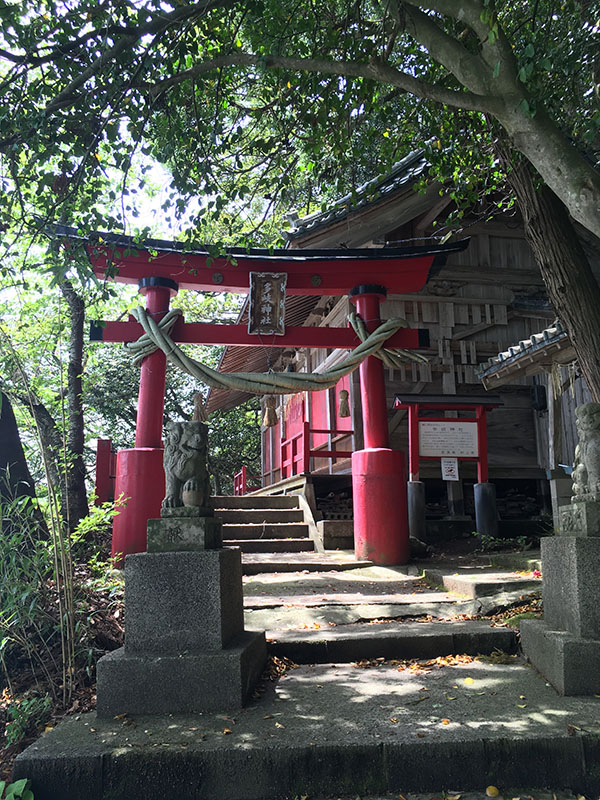
[{"label": "wide bottom block of the left lion statue's pedestal", "polygon": [[129,655],[98,662],[98,716],[224,711],[244,705],[267,660],[264,633],[202,655]]}]

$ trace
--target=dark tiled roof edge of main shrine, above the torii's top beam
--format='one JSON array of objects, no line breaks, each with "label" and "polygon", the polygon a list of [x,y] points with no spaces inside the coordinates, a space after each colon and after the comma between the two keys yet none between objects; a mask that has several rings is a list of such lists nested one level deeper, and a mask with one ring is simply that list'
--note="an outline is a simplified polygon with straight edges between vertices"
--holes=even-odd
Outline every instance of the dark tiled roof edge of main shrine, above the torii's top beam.
[{"label": "dark tiled roof edge of main shrine, above the torii's top beam", "polygon": [[373,178],[359,186],[351,194],[336,200],[326,211],[310,214],[298,219],[293,214],[288,216],[292,229],[284,231],[286,239],[293,240],[319,228],[345,219],[351,214],[362,211],[368,206],[378,203],[387,195],[392,195],[407,185],[414,183],[429,168],[423,150],[410,153],[394,164],[387,175]]}]

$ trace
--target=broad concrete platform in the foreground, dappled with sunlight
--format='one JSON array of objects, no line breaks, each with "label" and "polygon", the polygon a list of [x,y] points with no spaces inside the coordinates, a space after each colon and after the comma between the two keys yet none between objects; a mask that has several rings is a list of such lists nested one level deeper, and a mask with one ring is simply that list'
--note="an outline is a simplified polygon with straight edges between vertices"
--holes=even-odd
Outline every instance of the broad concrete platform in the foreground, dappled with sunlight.
[{"label": "broad concrete platform in the foreground, dappled with sunlight", "polygon": [[57,726],[16,761],[36,800],[276,800],[551,786],[598,796],[600,699],[519,663],[306,666],[243,711]]}]

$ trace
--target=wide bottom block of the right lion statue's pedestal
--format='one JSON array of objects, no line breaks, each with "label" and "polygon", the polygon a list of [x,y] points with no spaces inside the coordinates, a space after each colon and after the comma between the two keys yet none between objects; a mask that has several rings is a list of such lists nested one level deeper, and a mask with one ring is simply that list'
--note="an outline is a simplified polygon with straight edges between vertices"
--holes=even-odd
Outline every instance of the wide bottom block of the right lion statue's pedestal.
[{"label": "wide bottom block of the right lion statue's pedestal", "polygon": [[521,622],[521,647],[562,695],[600,694],[600,640],[549,630],[543,620]]}]

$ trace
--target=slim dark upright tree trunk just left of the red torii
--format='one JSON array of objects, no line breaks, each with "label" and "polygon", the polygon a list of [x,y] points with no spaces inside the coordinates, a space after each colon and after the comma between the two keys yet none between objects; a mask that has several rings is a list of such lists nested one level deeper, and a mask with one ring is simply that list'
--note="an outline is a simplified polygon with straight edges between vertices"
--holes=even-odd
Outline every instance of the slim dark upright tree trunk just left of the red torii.
[{"label": "slim dark upright tree trunk just left of the red torii", "polygon": [[83,299],[73,289],[69,281],[64,281],[60,288],[69,306],[70,318],[69,362],[67,365],[67,450],[69,464],[66,469],[66,517],[69,530],[72,531],[77,527],[79,520],[89,513],[85,485],[86,470],[83,460],[85,433],[81,379],[83,373],[85,306]]}]

